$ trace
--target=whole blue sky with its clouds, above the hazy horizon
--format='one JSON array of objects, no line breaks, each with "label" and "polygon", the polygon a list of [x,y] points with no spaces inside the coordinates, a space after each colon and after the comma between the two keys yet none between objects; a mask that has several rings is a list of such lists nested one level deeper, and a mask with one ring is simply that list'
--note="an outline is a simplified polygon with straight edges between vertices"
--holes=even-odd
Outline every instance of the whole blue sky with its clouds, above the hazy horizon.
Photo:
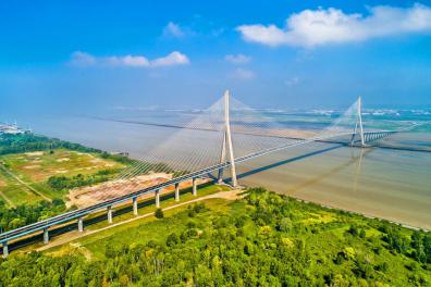
[{"label": "whole blue sky with its clouds, above the hazy horizon", "polygon": [[[346,3],[348,2],[348,3]],[[431,1],[1,1],[0,114],[431,105]]]}]

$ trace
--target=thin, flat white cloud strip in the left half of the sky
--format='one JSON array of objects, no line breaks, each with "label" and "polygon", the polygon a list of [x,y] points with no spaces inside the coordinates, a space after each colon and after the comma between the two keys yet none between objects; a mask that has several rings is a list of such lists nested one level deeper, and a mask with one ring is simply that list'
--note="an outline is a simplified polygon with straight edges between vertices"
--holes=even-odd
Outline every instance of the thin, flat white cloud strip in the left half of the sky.
[{"label": "thin, flat white cloud strip in the left half of the sky", "polygon": [[174,51],[167,57],[148,60],[144,55],[111,55],[95,57],[86,52],[76,51],[72,53],[70,63],[76,66],[130,66],[130,67],[157,67],[188,64],[187,55]]}]

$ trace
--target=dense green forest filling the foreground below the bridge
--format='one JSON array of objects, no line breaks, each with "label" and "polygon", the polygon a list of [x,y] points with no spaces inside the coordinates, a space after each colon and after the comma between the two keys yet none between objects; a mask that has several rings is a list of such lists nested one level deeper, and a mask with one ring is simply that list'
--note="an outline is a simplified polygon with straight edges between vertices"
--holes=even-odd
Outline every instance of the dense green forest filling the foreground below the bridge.
[{"label": "dense green forest filling the foreground below the bridge", "polygon": [[[260,188],[224,209],[200,203],[157,217],[101,239],[94,259],[14,253],[0,263],[0,286],[431,284],[429,233]],[[148,229],[158,232],[144,236]]]}]

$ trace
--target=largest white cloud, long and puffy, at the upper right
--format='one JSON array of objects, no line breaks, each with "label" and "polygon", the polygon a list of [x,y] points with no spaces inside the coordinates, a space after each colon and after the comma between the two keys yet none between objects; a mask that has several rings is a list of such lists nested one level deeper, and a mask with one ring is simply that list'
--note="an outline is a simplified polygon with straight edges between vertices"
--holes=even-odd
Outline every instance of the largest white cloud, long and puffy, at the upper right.
[{"label": "largest white cloud, long and puffy, at the upper right", "polygon": [[368,15],[346,14],[342,10],[304,10],[292,14],[284,28],[275,25],[242,25],[236,28],[244,40],[267,46],[313,47],[328,43],[364,41],[370,38],[407,33],[431,32],[431,8],[380,5]]}]

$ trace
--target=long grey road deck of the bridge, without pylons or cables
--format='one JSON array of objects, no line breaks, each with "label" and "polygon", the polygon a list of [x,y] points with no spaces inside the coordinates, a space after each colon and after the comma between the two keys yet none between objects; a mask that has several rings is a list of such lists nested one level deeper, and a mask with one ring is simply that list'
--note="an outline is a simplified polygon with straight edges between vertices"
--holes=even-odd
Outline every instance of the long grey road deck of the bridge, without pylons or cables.
[{"label": "long grey road deck of the bridge, without pylons or cables", "polygon": [[[378,138],[382,138],[384,136],[389,136],[391,134],[393,134],[394,132],[370,132],[370,133],[365,133],[365,138],[366,138],[366,142],[367,141],[372,141],[375,140]],[[258,151],[258,152],[254,152],[241,158],[235,159],[235,163],[239,163],[239,162],[244,162],[244,161],[248,161],[268,153],[272,153],[275,151],[281,151],[284,150],[286,148],[291,148],[291,147],[295,147],[295,146],[300,146],[300,145],[305,145],[305,144],[309,144],[312,141],[323,141],[325,139],[330,139],[330,138],[334,138],[334,137],[340,137],[340,136],[352,136],[353,133],[340,133],[340,134],[334,134],[334,135],[327,135],[327,136],[321,136],[321,137],[316,137],[316,138],[311,138],[311,139],[303,139],[303,140],[293,140],[292,142],[279,146],[279,147],[274,147],[274,148],[270,148],[270,149],[266,149],[262,151]],[[345,142],[344,142],[345,144]],[[348,144],[345,144],[346,146]],[[200,176],[205,176],[208,175],[212,172],[219,171],[221,169],[226,169],[231,165],[230,162],[224,162],[224,163],[219,163],[186,175],[182,175],[178,176],[176,178],[170,179],[168,182],[148,187],[148,188],[144,188],[141,190],[125,195],[125,196],[121,196],[118,198],[113,198],[100,203],[97,203],[95,205],[88,207],[88,208],[84,208],[84,209],[79,209],[79,210],[74,210],[74,211],[70,211],[70,212],[65,212],[62,213],[60,215],[57,216],[52,216],[50,219],[44,220],[44,221],[39,221],[10,232],[5,232],[0,234],[0,244],[3,245],[3,254],[7,255],[8,250],[4,250],[4,248],[7,248],[8,246],[8,241],[24,237],[26,235],[36,233],[36,232],[40,232],[40,230],[48,230],[49,227],[54,226],[54,225],[59,225],[65,222],[70,222],[73,220],[82,220],[84,216],[94,213],[96,211],[100,211],[102,209],[111,209],[112,205],[114,204],[119,204],[122,203],[124,201],[127,200],[135,200],[137,197],[143,196],[143,195],[148,195],[148,194],[152,194],[152,192],[158,192],[160,191],[160,189],[172,186],[172,185],[176,185],[180,184],[182,182],[185,180],[189,180],[189,179],[195,179],[197,177]],[[110,215],[108,215],[110,216]],[[46,238],[46,241],[48,241],[48,235]],[[7,251],[7,252],[4,252]]]}]

